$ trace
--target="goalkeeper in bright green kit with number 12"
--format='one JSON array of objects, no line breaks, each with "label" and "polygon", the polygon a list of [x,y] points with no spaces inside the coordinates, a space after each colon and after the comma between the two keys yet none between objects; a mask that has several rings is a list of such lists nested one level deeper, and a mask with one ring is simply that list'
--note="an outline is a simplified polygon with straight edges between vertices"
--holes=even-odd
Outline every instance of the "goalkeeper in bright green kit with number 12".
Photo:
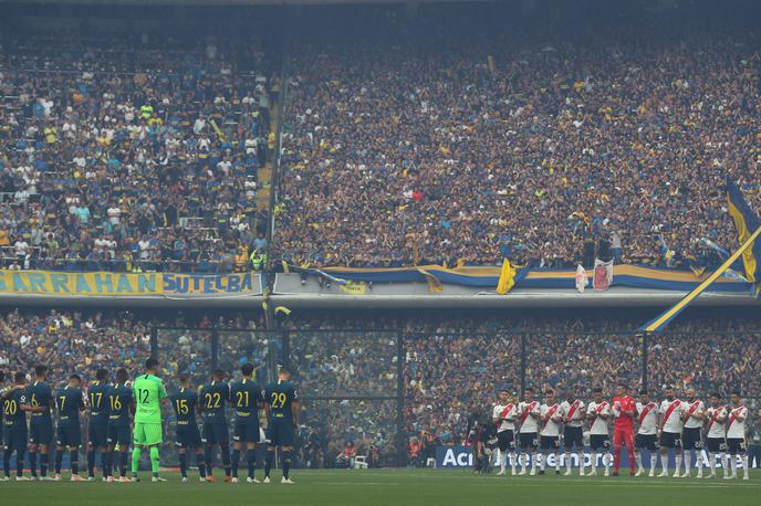
[{"label": "goalkeeper in bright green kit with number 12", "polygon": [[145,362],[145,375],[135,378],[133,392],[135,396],[135,431],[132,451],[132,481],[137,482],[137,466],[143,455],[143,449],[150,452],[152,482],[166,482],[158,477],[158,445],[161,436],[161,402],[167,393],[164,383],[156,377],[158,361],[149,358]]}]

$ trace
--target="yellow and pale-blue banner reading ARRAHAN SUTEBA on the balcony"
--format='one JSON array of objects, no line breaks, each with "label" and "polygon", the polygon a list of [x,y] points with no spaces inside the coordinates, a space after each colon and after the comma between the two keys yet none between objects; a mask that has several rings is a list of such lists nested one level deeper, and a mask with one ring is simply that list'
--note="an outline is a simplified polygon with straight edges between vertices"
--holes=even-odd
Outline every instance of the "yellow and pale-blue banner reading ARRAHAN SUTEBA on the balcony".
[{"label": "yellow and pale-blue banner reading ARRAHAN SUTEBA on the balcony", "polygon": [[261,283],[253,273],[200,275],[0,271],[0,295],[184,297],[260,293]]}]

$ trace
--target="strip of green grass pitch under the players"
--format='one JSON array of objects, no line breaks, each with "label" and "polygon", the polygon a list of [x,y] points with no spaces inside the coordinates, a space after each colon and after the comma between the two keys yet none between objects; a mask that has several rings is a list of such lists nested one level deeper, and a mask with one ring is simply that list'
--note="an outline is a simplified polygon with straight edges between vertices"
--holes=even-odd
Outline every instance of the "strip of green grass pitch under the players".
[{"label": "strip of green grass pitch under the players", "polygon": [[[281,485],[280,472],[271,484],[180,483],[164,473],[167,483],[0,483],[0,504],[31,505],[710,505],[761,504],[761,471],[751,479],[582,478],[554,473],[531,477],[473,475],[468,471],[436,470],[295,470],[295,485]],[[66,476],[67,477],[67,476]],[[261,478],[261,470],[258,470]]]}]

